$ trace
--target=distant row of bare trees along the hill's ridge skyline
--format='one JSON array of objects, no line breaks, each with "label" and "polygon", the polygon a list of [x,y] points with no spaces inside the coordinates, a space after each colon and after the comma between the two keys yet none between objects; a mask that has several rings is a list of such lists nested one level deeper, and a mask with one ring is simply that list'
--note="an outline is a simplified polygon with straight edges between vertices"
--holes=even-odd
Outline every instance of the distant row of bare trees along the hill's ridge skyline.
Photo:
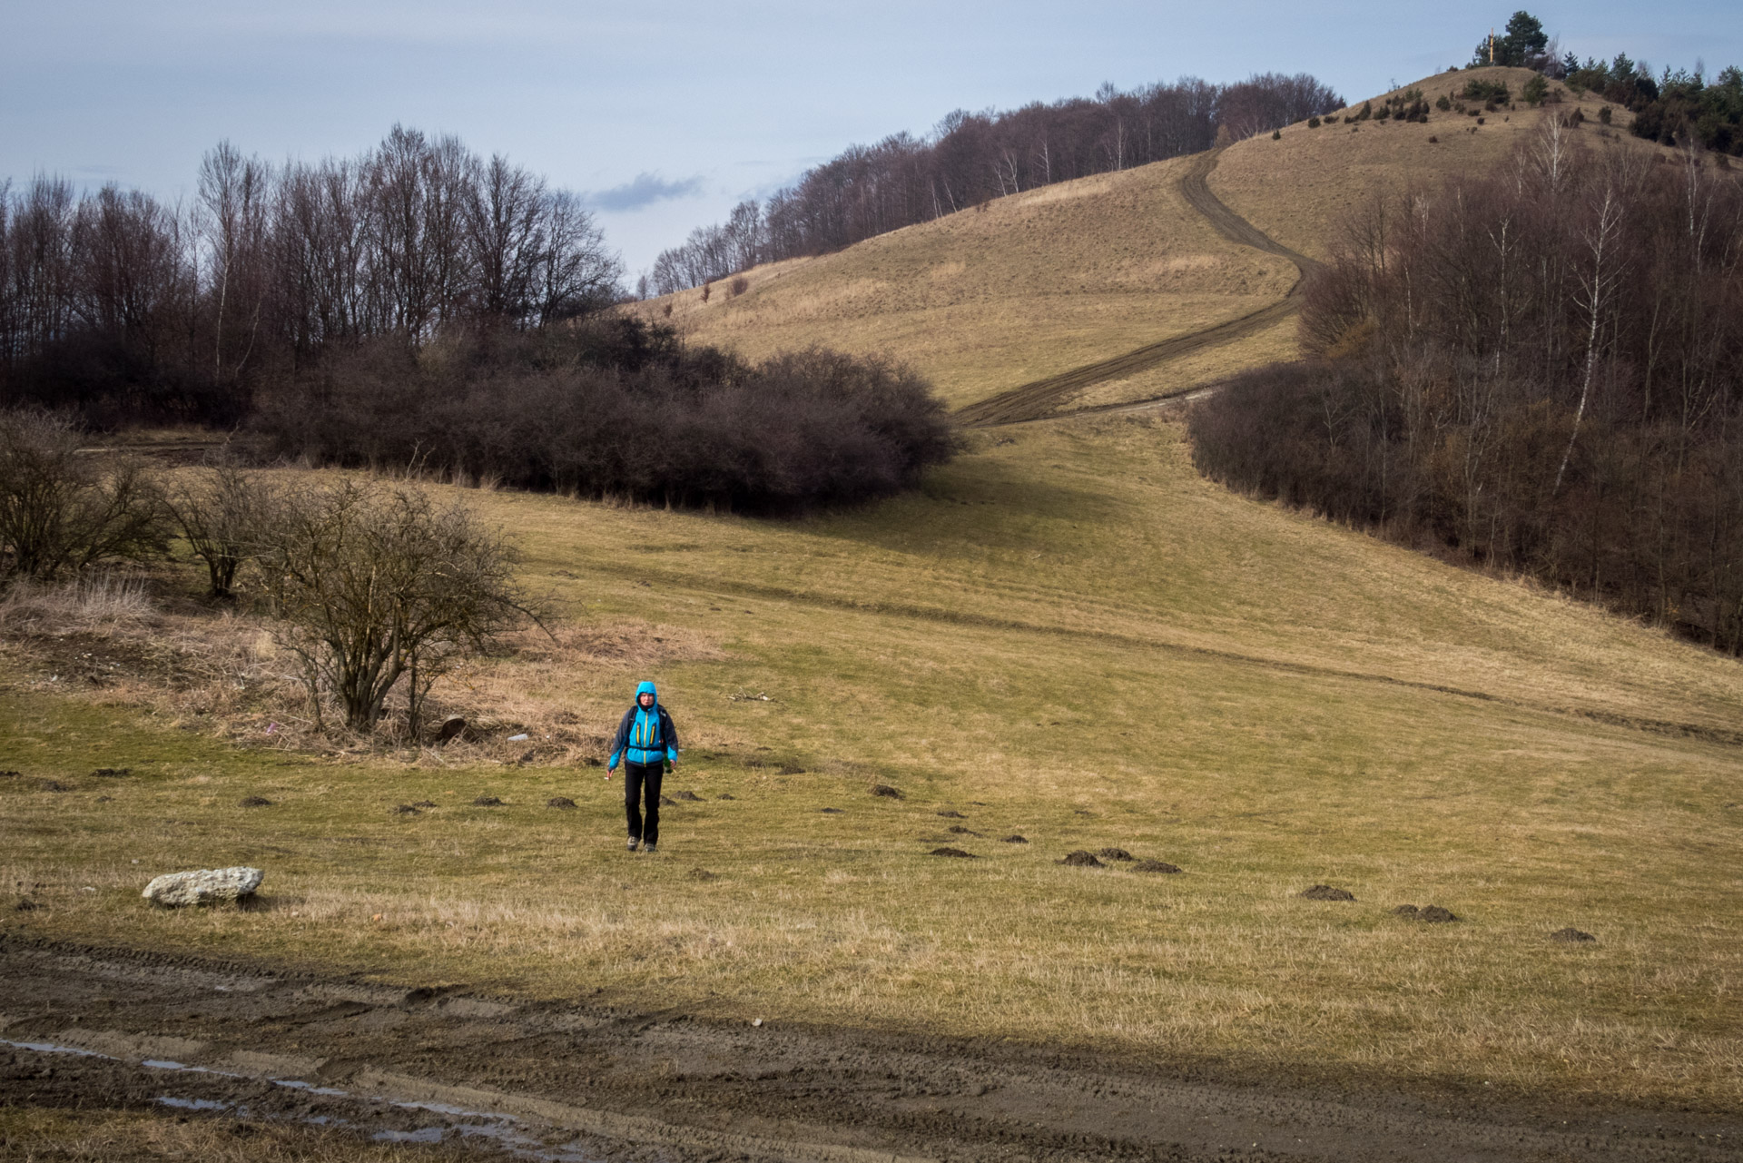
[{"label": "distant row of bare trees along the hill's ridge skyline", "polygon": [[734,207],[661,253],[641,295],[669,295],[760,262],[823,255],[992,197],[1197,153],[1340,108],[1312,77],[1262,73],[1232,85],[1182,78],[1095,99],[945,117],[927,138],[899,133],[816,166],[765,204]]}]

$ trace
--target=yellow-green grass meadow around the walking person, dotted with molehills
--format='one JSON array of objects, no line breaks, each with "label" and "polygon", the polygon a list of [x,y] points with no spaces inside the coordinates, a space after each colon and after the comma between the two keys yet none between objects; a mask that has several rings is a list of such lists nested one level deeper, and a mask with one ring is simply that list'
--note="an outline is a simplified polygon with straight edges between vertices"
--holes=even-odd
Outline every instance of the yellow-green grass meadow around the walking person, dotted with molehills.
[{"label": "yellow-green grass meadow around the walking person, dotted with molehills", "polygon": [[[495,729],[451,753],[288,748],[200,675],[59,694],[148,612],[14,629],[0,874],[40,907],[0,924],[1293,1078],[1743,1098],[1743,668],[1229,495],[1177,425],[976,441],[920,493],[788,525],[472,493],[565,621],[450,687]],[[685,734],[668,792],[699,797],[654,858],[575,762],[647,675]],[[1109,846],[1183,874],[1058,863]],[[138,898],[239,861],[261,908]],[[1318,882],[1356,900],[1297,896]]]}]

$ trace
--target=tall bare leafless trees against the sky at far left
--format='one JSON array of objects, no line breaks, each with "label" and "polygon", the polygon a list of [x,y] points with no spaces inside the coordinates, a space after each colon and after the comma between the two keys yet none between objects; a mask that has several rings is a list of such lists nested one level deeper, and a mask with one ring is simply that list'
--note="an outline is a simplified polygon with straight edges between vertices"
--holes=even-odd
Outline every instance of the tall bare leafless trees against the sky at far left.
[{"label": "tall bare leafless trees against the sky at far left", "polygon": [[38,176],[0,185],[0,405],[89,424],[234,424],[263,375],[450,326],[540,328],[621,274],[575,195],[455,138],[394,127],[354,159],[228,143],[171,207]]}]

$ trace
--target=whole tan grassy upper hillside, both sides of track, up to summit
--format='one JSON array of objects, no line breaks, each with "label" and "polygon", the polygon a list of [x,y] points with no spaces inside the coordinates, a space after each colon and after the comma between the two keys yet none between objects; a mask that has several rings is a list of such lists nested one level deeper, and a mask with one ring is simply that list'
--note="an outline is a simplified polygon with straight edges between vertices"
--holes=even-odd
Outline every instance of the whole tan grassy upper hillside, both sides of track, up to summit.
[{"label": "whole tan grassy upper hillside, both sides of track, up to summit", "polygon": [[[1530,77],[1461,70],[1405,89],[1434,101],[1502,80],[1518,94]],[[1495,166],[1546,117],[1574,108],[1593,148],[1658,148],[1626,134],[1626,112],[1605,131],[1602,101],[1560,96],[1483,113],[1482,126],[1440,110],[1428,124],[1302,122],[1211,159],[1028,190],[835,255],[756,267],[743,295],[715,286],[706,302],[692,289],[634,310],[753,359],[810,343],[884,352],[931,377],[971,422],[1021,418],[1013,406],[1044,415],[1149,399],[1293,357],[1292,258],[1323,258],[1370,199]],[[1218,206],[1231,221],[1210,213]]]}]

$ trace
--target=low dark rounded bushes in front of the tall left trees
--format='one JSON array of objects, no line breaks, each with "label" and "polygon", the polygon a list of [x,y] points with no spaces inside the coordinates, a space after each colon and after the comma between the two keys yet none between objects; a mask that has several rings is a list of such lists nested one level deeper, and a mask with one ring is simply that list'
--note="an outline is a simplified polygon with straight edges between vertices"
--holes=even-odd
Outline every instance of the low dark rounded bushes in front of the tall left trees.
[{"label": "low dark rounded bushes in front of the tall left trees", "polygon": [[258,424],[317,464],[756,513],[889,495],[955,450],[903,368],[826,350],[751,366],[634,319],[364,345],[288,377]]}]

